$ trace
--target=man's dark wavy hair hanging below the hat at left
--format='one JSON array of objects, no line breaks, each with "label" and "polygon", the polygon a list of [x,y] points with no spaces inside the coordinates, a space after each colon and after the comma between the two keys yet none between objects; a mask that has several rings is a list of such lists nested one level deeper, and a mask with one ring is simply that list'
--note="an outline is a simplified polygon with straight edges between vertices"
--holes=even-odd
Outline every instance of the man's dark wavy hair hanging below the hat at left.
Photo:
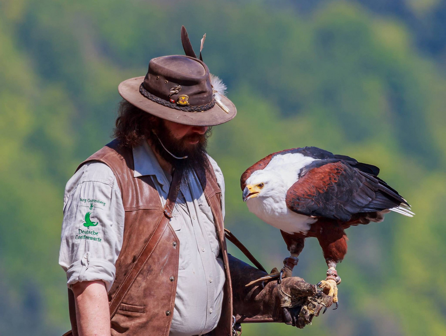
[{"label": "man's dark wavy hair hanging below the hat at left", "polygon": [[161,119],[151,115],[123,99],[118,108],[113,136],[122,146],[136,147],[157,128]]}]

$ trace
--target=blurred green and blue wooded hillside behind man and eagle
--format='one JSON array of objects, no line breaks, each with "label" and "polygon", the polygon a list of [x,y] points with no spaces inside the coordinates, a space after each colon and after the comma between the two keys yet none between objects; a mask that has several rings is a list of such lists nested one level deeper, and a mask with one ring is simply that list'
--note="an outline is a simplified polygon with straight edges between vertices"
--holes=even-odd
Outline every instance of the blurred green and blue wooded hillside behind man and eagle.
[{"label": "blurred green and blue wooded hillside behind man and eagle", "polygon": [[[446,1],[0,0],[0,334],[69,328],[58,266],[62,196],[110,140],[118,84],[182,54],[185,25],[238,109],[213,128],[226,226],[264,263],[288,255],[248,212],[239,178],[285,148],[376,164],[417,213],[347,230],[340,307],[304,330],[249,335],[446,335]],[[229,246],[230,252],[243,258]],[[314,238],[294,271],[325,278]]]}]

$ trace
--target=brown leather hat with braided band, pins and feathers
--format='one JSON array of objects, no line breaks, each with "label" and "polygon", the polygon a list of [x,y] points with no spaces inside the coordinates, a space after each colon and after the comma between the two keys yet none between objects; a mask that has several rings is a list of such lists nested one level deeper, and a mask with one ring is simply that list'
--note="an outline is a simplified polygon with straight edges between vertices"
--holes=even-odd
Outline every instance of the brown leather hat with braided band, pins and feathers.
[{"label": "brown leather hat with braided band, pins and feathers", "polygon": [[[189,43],[190,49],[184,48],[188,53],[192,47],[186,29],[182,30],[182,40],[183,46]],[[237,114],[234,104],[224,95],[224,88],[193,53],[151,59],[145,77],[121,82],[118,91],[128,102],[162,119],[212,126],[226,123]]]}]

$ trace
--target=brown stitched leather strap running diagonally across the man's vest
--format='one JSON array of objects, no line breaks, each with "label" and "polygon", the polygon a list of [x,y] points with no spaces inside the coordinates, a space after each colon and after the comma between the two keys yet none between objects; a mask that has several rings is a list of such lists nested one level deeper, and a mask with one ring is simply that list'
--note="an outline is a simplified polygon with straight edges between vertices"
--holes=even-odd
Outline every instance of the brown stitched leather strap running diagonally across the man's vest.
[{"label": "brown stitched leather strap running diagonally across the man's vest", "polygon": [[133,283],[136,280],[136,277],[140,274],[141,270],[149,260],[150,256],[153,253],[153,250],[155,250],[158,242],[164,234],[164,231],[169,223],[169,219],[172,217],[173,206],[175,205],[175,201],[177,200],[182,175],[182,171],[178,169],[176,169],[173,173],[172,183],[170,184],[169,195],[167,196],[167,201],[164,205],[163,214],[161,215],[161,218],[158,221],[158,224],[152,235],[149,237],[145,246],[138,255],[138,258],[136,258],[136,261],[130,269],[130,272],[128,272],[128,275],[125,277],[123,283],[118,288],[115,295],[113,295],[113,299],[111,299],[110,301],[110,319],[112,319],[115,315],[125,295],[128,293],[130,287],[132,287]]}]

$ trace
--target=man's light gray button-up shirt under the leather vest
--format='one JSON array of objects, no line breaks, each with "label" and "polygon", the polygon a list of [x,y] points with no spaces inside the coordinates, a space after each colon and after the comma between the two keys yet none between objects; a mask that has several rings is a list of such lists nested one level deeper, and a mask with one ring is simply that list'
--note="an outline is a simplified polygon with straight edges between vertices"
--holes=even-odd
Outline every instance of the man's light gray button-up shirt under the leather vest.
[{"label": "man's light gray button-up shirt under the leather vest", "polygon": [[[151,176],[162,205],[171,176],[165,174],[147,142],[133,148],[134,176]],[[222,189],[223,174],[209,157]],[[194,172],[186,176],[170,225],[180,241],[175,308],[170,335],[201,335],[217,326],[225,275],[214,218]],[[87,213],[90,213],[87,216]],[[91,162],[66,184],[59,264],[69,287],[79,281],[103,280],[107,291],[115,279],[115,262],[122,246],[124,207],[111,169]]]}]

